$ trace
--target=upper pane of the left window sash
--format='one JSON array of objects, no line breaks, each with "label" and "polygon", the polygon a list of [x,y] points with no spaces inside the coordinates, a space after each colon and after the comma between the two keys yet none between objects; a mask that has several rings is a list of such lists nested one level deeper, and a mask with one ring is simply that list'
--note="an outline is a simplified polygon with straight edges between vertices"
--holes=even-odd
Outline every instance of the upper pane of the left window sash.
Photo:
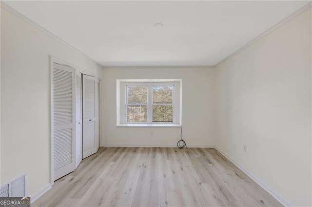
[{"label": "upper pane of the left window sash", "polygon": [[147,104],[147,86],[127,86],[128,104]]}]

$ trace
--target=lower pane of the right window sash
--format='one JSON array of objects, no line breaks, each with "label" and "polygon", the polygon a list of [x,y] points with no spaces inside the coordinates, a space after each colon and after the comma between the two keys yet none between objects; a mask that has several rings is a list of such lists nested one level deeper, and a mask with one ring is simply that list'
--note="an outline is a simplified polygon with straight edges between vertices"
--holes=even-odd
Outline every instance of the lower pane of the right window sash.
[{"label": "lower pane of the right window sash", "polygon": [[173,122],[172,104],[153,105],[153,122]]}]

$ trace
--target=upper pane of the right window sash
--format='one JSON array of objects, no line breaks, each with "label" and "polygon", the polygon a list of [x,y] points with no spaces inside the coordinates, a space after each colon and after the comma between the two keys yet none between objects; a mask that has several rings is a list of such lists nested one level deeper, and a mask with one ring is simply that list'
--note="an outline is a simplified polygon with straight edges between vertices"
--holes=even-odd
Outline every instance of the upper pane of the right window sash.
[{"label": "upper pane of the right window sash", "polygon": [[153,86],[153,103],[173,103],[173,85]]}]

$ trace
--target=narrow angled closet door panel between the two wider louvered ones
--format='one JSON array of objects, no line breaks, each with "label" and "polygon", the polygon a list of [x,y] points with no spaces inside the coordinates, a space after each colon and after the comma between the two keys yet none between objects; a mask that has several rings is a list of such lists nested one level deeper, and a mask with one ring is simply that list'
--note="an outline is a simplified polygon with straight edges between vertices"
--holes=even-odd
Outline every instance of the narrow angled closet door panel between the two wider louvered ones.
[{"label": "narrow angled closet door panel between the two wider louvered ones", "polygon": [[76,166],[82,160],[82,77],[76,73]]}]

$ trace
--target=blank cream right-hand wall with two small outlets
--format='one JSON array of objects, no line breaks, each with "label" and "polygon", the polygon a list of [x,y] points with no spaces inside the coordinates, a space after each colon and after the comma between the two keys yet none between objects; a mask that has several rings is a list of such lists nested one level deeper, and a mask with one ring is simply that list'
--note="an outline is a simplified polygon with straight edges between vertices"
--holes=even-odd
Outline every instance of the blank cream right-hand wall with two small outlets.
[{"label": "blank cream right-hand wall with two small outlets", "polygon": [[294,206],[312,205],[311,21],[309,8],[217,65],[216,146]]}]

